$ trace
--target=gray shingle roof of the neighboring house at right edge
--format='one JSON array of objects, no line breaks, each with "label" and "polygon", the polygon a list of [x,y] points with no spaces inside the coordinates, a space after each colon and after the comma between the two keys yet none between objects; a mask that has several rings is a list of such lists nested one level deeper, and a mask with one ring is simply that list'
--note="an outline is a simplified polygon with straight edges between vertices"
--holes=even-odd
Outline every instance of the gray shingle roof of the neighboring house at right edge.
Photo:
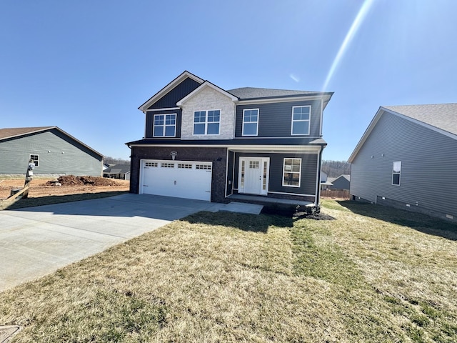
[{"label": "gray shingle roof of the neighboring house at right edge", "polygon": [[457,134],[457,104],[383,106],[384,109]]}]

